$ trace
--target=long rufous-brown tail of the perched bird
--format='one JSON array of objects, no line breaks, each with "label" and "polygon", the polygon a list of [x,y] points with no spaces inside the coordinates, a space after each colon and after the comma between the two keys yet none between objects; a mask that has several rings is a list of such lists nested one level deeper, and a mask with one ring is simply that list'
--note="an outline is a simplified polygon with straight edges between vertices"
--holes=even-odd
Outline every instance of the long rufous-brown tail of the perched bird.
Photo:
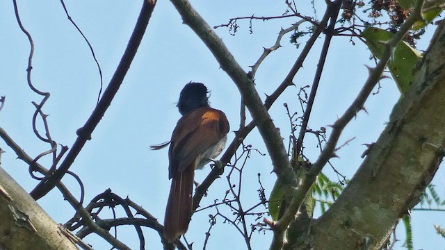
[{"label": "long rufous-brown tail of the perched bird", "polygon": [[175,242],[186,233],[192,216],[193,180],[195,168],[186,167],[183,172],[177,172],[172,178],[167,208],[165,208],[164,237]]}]

